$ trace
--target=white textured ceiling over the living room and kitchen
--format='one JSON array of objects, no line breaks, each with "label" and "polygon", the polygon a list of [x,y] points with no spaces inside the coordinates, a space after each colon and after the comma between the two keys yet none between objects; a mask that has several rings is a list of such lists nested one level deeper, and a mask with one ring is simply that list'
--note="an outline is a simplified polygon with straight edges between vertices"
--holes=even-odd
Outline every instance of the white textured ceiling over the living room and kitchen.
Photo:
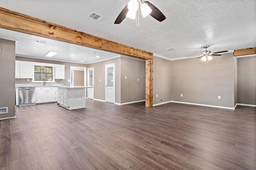
[{"label": "white textured ceiling over the living room and kitchen", "polygon": [[[256,0],[149,1],[162,11],[166,20],[159,22],[140,14],[139,26],[136,20],[129,18],[114,24],[129,0],[0,0],[0,6],[170,60],[200,55],[204,45],[209,45],[212,52],[256,47]],[[88,18],[91,12],[106,19],[98,22]],[[1,37],[5,34],[0,30]],[[56,60],[63,58],[78,63],[88,58],[85,63],[92,63],[96,59],[95,54],[91,55],[95,51],[92,49],[36,37],[49,41],[37,50],[39,45],[32,42],[32,37],[26,35],[28,38],[23,41],[23,35],[18,37],[17,33],[16,36],[17,55],[42,57],[45,54],[42,49],[47,49],[46,53],[49,50],[63,51],[56,55],[59,57]],[[64,48],[59,49],[62,46]],[[176,50],[168,51],[169,48]],[[106,52],[99,55],[98,61],[117,56]]]}]

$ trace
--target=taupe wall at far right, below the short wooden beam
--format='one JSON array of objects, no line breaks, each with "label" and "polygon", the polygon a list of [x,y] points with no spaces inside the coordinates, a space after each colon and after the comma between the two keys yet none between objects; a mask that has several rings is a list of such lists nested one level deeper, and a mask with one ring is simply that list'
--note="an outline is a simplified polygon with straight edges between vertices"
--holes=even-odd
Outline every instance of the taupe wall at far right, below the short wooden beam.
[{"label": "taupe wall at far right, below the short wooden beam", "polygon": [[239,104],[256,105],[256,56],[238,58]]}]

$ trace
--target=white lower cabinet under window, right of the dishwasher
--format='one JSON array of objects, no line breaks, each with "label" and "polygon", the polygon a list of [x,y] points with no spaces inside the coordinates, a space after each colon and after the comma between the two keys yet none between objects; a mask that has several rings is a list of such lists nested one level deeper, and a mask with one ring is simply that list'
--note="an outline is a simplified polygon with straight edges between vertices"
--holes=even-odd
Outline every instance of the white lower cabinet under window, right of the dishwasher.
[{"label": "white lower cabinet under window, right of the dishwasher", "polygon": [[36,103],[56,102],[57,87],[37,87]]}]

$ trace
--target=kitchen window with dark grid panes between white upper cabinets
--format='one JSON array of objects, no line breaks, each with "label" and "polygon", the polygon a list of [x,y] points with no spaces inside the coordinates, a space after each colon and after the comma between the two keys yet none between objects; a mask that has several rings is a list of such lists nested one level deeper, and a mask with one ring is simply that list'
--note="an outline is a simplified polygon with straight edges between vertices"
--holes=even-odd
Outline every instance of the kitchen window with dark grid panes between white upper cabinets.
[{"label": "kitchen window with dark grid panes between white upper cabinets", "polygon": [[52,81],[53,69],[50,66],[34,66],[34,81]]}]

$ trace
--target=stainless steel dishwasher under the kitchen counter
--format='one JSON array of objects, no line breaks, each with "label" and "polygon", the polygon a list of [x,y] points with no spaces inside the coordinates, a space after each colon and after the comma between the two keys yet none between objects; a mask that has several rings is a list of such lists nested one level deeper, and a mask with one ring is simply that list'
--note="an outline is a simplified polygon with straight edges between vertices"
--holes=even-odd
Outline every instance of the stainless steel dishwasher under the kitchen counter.
[{"label": "stainless steel dishwasher under the kitchen counter", "polygon": [[19,88],[19,106],[28,106],[36,104],[36,88],[20,87]]}]

